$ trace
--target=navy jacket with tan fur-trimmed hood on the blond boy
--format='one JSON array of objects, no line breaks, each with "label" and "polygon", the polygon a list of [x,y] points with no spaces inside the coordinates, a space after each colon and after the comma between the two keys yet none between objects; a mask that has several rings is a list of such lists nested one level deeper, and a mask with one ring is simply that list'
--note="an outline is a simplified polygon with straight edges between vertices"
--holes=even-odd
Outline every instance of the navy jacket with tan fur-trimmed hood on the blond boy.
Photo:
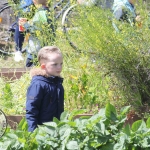
[{"label": "navy jacket with tan fur-trimmed hood on the blond boy", "polygon": [[32,70],[32,81],[27,90],[26,119],[28,131],[33,131],[37,125],[60,119],[64,111],[63,78],[47,77],[42,70]]}]

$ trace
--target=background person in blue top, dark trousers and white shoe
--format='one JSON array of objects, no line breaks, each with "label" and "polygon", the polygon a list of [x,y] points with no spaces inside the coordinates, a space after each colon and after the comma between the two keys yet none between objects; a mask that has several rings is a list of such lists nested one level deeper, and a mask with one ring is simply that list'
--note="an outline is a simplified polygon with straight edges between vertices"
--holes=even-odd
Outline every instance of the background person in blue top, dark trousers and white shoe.
[{"label": "background person in blue top, dark trousers and white shoe", "polygon": [[[19,9],[21,9],[23,12],[22,13],[30,13],[30,6],[33,5],[33,1],[32,0],[20,0],[20,4],[19,4]],[[18,17],[17,17],[17,22],[18,19],[22,17],[22,15],[19,13]],[[16,62],[22,61],[23,57],[22,57],[22,46],[23,46],[23,42],[24,42],[24,38],[25,38],[25,33],[22,31],[19,31],[19,25],[17,24],[16,28],[15,28],[15,56],[14,56],[14,60]]]}]

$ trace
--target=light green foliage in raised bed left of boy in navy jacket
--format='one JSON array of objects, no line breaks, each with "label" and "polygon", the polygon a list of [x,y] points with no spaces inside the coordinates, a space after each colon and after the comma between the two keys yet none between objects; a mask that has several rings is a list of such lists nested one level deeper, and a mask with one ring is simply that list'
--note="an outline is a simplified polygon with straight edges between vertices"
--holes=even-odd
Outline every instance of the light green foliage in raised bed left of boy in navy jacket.
[{"label": "light green foliage in raised bed left of boy in navy jacket", "polygon": [[7,115],[24,114],[26,89],[30,82],[29,74],[24,74],[19,80],[3,83],[0,91],[0,108]]}]

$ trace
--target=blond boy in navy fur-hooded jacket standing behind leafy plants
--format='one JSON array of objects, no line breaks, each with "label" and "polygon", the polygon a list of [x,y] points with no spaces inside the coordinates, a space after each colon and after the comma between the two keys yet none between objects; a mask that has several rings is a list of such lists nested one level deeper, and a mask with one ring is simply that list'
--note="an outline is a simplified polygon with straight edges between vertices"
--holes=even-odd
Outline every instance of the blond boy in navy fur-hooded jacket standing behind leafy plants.
[{"label": "blond boy in navy fur-hooded jacket standing behind leafy plants", "polygon": [[38,52],[39,69],[32,69],[32,81],[27,90],[26,119],[32,132],[44,122],[60,119],[64,111],[63,57],[56,46],[45,46]]}]

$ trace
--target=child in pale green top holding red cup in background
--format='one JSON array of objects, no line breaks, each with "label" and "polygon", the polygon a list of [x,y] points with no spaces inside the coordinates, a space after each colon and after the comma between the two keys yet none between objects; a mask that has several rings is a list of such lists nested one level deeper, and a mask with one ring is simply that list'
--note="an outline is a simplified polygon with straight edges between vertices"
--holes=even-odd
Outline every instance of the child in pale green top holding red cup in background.
[{"label": "child in pale green top holding red cup in background", "polygon": [[33,18],[28,22],[25,22],[23,18],[19,22],[30,33],[27,46],[26,67],[32,67],[34,65],[34,58],[36,58],[41,46],[53,44],[55,39],[54,19],[50,17],[47,0],[33,0],[33,3],[37,8]]}]

